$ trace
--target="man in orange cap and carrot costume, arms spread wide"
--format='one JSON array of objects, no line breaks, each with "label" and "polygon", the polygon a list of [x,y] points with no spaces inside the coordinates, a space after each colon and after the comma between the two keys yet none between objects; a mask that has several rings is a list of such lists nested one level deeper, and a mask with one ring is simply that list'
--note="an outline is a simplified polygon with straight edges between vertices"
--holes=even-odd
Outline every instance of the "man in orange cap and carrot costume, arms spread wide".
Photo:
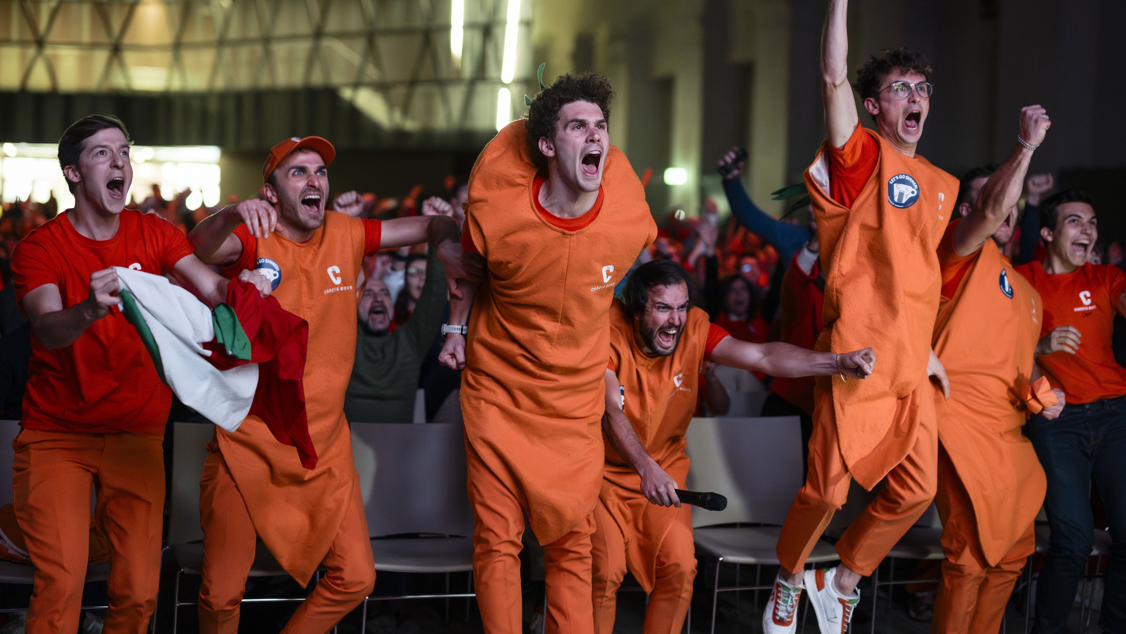
[{"label": "man in orange cap and carrot costume, arms spread wide", "polygon": [[238,632],[256,537],[298,583],[307,583],[318,565],[328,569],[283,632],[322,634],[372,592],[375,569],[343,414],[361,261],[382,248],[429,240],[447,271],[481,273],[446,216],[381,223],[325,212],[334,155],[319,136],[283,141],[262,168],[267,199],[230,205],[189,235],[202,260],[226,274],[258,270],[272,282],[282,307],[309,322],[304,398],[318,456],[306,470],[254,416],[233,434],[216,428],[200,482],[200,632]]}]

